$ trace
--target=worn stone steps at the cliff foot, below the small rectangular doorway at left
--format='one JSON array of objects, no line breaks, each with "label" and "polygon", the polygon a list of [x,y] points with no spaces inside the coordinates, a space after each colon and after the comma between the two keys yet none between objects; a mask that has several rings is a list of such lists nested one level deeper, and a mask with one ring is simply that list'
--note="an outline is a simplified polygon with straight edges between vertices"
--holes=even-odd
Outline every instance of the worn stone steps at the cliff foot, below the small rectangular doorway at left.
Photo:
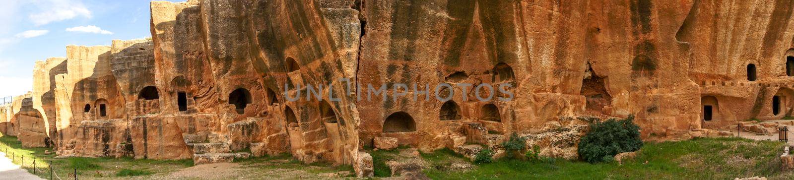
[{"label": "worn stone steps at the cliff foot, below the small rectangular doorway at left", "polygon": [[228,138],[217,134],[185,135],[187,147],[193,149],[193,164],[229,163],[234,159],[248,159],[248,152],[230,152]]}]

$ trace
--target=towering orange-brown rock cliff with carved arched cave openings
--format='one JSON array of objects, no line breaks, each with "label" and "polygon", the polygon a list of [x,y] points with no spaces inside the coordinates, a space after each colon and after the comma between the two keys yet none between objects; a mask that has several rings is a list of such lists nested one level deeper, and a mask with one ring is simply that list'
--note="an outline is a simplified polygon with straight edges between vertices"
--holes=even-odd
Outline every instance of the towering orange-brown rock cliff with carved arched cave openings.
[{"label": "towering orange-brown rock cliff with carved arched cave openings", "polygon": [[0,131],[59,155],[287,152],[363,176],[382,140],[473,153],[518,133],[576,158],[588,118],[630,114],[646,140],[721,136],[703,128],[792,115],[792,3],[156,1],[152,39],[38,62]]}]

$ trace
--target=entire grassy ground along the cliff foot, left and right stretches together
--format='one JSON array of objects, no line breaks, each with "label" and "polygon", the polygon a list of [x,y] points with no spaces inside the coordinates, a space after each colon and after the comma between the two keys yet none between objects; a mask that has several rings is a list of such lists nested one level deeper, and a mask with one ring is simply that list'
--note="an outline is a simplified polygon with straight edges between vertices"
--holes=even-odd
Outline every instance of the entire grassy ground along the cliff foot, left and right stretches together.
[{"label": "entire grassy ground along the cliff foot, left and right stretches together", "polygon": [[[234,163],[225,172],[192,169],[192,161],[160,161],[147,159],[67,158],[55,159],[44,155],[48,148],[21,148],[16,138],[0,137],[0,142],[10,144],[9,155],[25,155],[25,167],[37,159],[37,167],[47,170],[52,160],[60,178],[66,178],[77,168],[80,178],[168,178],[175,171],[195,174],[214,174],[208,178],[287,178],[327,179],[350,178],[353,167],[314,163],[304,164],[291,155],[243,159]],[[472,165],[468,159],[456,155],[449,149],[421,153],[418,157],[426,162],[422,170],[433,179],[733,179],[764,176],[770,179],[791,179],[792,172],[781,172],[780,159],[783,143],[777,141],[754,141],[740,138],[695,139],[678,142],[646,143],[634,159],[618,163],[584,163],[564,159],[542,159],[523,161],[499,159],[494,163]],[[6,151],[5,147],[2,151]],[[401,147],[404,150],[406,147]],[[369,151],[373,157],[376,178],[388,177],[391,170],[386,161],[394,159],[402,150]],[[44,163],[42,163],[44,162]],[[471,165],[464,170],[449,169],[452,163]],[[49,178],[48,173],[37,174]],[[177,177],[179,178],[179,177]],[[181,178],[205,179],[205,178]]]}]

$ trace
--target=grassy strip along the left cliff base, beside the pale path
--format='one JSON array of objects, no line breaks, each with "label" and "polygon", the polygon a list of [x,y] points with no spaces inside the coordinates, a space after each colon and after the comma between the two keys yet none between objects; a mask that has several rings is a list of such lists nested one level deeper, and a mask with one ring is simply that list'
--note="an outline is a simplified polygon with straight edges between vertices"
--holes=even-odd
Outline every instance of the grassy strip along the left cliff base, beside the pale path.
[{"label": "grassy strip along the left cliff base, beside the pale path", "polygon": [[[51,148],[22,148],[21,143],[13,136],[0,136],[0,151],[6,152],[9,159],[12,155],[16,159],[14,163],[21,164],[21,157],[25,157],[25,170],[40,178],[49,178],[50,161],[53,170],[62,179],[68,179],[77,169],[80,179],[265,179],[265,178],[342,178],[351,177],[353,167],[333,166],[326,163],[304,164],[297,159],[293,159],[289,154],[268,156],[252,159],[236,160],[235,166],[223,167],[193,167],[192,159],[184,160],[152,160],[152,159],[113,159],[113,158],[55,158],[55,154],[44,155],[44,151],[51,151]],[[36,159],[37,168],[44,173],[33,170],[33,159]],[[209,168],[209,170],[207,169]],[[191,173],[185,176],[174,175],[175,172],[188,171]],[[183,173],[184,174],[184,173]],[[195,176],[191,176],[195,175]]]}]

